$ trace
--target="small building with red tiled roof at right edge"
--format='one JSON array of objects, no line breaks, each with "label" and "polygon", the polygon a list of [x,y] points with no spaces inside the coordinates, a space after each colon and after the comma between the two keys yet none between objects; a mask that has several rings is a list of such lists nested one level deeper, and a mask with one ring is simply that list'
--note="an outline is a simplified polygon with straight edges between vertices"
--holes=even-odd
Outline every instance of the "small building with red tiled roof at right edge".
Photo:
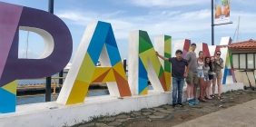
[{"label": "small building with red tiled roof at right edge", "polygon": [[[241,71],[253,70],[256,74],[256,40],[250,39],[249,41],[222,45],[222,47],[231,48],[233,67],[235,69],[235,77],[237,82],[241,82],[249,86],[246,73]],[[252,72],[248,72],[248,75],[251,85],[256,86],[256,75],[253,75]]]}]

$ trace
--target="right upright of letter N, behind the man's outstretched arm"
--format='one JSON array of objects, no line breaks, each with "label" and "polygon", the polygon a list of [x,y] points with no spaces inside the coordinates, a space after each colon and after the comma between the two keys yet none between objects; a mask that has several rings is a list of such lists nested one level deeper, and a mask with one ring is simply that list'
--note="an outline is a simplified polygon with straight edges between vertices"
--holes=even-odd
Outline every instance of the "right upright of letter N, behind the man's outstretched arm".
[{"label": "right upright of letter N, behind the man's outstretched arm", "polygon": [[[154,48],[155,50],[164,57],[171,58],[171,50],[172,50],[172,37],[169,35],[159,35],[154,37]],[[172,65],[170,62],[163,61],[159,58],[160,63],[164,66],[164,74],[166,81],[167,91],[170,91],[170,86],[172,82]]]}]

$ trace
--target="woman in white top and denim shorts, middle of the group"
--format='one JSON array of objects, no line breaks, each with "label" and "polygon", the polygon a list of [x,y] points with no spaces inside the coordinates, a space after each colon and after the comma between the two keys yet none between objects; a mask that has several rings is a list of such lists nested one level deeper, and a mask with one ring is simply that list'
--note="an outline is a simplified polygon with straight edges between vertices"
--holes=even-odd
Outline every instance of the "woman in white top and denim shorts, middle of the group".
[{"label": "woman in white top and denim shorts, middle of the group", "polygon": [[207,101],[204,99],[204,92],[205,92],[205,85],[204,85],[204,73],[202,70],[202,66],[203,66],[203,52],[200,51],[199,52],[199,57],[197,59],[198,61],[198,80],[199,80],[199,85],[200,85],[200,97],[198,98],[198,100],[202,103],[206,103]]}]

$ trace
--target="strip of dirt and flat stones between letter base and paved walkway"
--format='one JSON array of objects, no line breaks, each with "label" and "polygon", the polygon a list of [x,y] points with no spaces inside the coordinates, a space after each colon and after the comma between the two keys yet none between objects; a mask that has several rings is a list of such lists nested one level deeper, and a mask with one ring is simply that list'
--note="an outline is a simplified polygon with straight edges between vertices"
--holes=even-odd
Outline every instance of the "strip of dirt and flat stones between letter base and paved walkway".
[{"label": "strip of dirt and flat stones between letter base and paved walkway", "polygon": [[208,100],[207,103],[199,103],[192,106],[183,103],[184,107],[172,108],[172,105],[165,104],[159,107],[142,109],[141,111],[123,112],[111,116],[98,116],[90,122],[80,122],[74,125],[74,127],[170,127],[254,99],[256,99],[256,91],[239,90],[222,93],[222,100],[218,100],[215,97],[212,100]]}]

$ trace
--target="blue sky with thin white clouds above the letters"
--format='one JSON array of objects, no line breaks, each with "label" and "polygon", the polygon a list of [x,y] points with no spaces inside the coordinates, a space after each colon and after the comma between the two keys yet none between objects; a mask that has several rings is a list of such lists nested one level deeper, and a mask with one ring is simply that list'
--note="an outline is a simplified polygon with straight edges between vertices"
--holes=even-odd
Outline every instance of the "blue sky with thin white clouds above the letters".
[{"label": "blue sky with thin white clouds above the letters", "polygon": [[[48,0],[0,0],[48,11]],[[240,18],[238,42],[256,40],[255,0],[231,0],[233,24],[214,27],[214,44],[220,44],[223,36],[234,37]],[[147,31],[153,43],[156,35],[172,36],[175,40],[190,39],[192,43],[212,44],[210,0],[54,0],[54,15],[68,26],[73,37],[73,55],[78,49],[86,25],[95,21],[111,23],[122,58],[129,59],[129,32]],[[19,58],[37,58],[44,52],[43,38],[32,32],[20,31]]]}]

